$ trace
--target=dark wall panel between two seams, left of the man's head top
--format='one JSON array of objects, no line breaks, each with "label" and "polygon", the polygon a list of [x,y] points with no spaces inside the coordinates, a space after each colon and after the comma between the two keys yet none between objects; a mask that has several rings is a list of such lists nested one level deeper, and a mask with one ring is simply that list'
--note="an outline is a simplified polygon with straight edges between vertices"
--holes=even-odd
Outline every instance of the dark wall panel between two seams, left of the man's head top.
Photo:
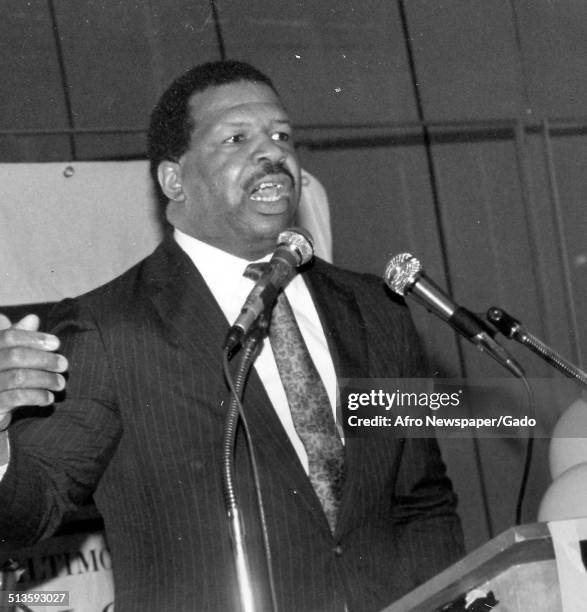
[{"label": "dark wall panel between two seams, left of the man's head top", "polygon": [[[208,2],[55,2],[73,126],[130,128],[76,137],[78,159],[138,157],[152,106],[182,71],[218,59]],[[114,155],[113,155],[114,153]]]}]

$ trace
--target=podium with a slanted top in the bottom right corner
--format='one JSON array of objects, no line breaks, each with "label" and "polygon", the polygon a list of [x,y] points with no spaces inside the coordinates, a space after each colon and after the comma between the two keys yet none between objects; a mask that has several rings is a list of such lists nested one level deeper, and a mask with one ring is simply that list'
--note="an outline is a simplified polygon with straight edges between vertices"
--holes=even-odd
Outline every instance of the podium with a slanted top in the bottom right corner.
[{"label": "podium with a slanted top in the bottom right corner", "polygon": [[[560,525],[553,528],[555,523]],[[587,539],[583,540],[587,536],[577,536],[581,532],[587,534],[587,519],[555,523],[512,527],[382,612],[462,611],[465,610],[465,597],[476,590],[492,593],[499,602],[495,606],[497,611],[587,610]],[[568,541],[564,537],[562,540],[556,535],[553,537],[557,531],[571,536]],[[565,549],[569,542],[570,548]],[[573,575],[569,575],[565,564],[572,566],[570,574],[574,572]],[[565,589],[580,591],[581,602],[577,603],[576,597],[573,600],[571,594],[571,602],[567,597],[565,603]],[[492,607],[474,609],[490,610]]]}]

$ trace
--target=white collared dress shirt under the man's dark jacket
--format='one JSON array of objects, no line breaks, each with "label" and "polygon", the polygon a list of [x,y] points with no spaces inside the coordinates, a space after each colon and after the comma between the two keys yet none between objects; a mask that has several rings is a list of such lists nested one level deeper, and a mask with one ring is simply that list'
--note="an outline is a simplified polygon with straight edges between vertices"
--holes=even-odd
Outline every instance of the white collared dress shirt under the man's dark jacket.
[{"label": "white collared dress shirt under the man's dark jacket", "polygon": [[[174,231],[174,238],[200,271],[228,323],[234,323],[249,292],[255,285],[254,281],[243,276],[246,267],[251,262],[210,246],[201,240],[192,238],[177,229]],[[260,261],[269,261],[270,258],[271,255],[267,255]],[[326,336],[322,329],[318,312],[308,287],[300,275],[294,276],[288,283],[285,288],[285,294],[291,304],[312,360],[324,382],[336,420],[337,387],[334,364],[328,350]],[[222,347],[218,347],[218,350],[222,350]],[[281,383],[268,338],[265,338],[261,351],[257,356],[255,369],[281,424],[307,472],[308,459],[306,451],[295,431],[285,389]],[[244,400],[246,410],[246,394]]]}]

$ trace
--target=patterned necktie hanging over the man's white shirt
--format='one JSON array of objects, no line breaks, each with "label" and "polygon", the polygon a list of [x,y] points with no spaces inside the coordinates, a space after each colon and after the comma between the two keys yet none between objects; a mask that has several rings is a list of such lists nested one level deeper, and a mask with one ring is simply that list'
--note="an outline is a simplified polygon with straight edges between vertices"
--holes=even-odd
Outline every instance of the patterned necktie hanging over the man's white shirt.
[{"label": "patterned necktie hanging over the man's white shirt", "polygon": [[[249,268],[245,276],[257,273]],[[326,388],[283,291],[271,315],[269,341],[294,427],[306,449],[310,482],[334,533],[344,481],[344,446]]]}]

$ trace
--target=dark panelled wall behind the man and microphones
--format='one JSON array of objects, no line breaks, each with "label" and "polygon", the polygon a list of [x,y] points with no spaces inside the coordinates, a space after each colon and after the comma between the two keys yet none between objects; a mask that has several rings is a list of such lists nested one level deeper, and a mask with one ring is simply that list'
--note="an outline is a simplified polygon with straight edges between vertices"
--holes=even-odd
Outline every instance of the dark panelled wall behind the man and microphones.
[{"label": "dark panelled wall behind the man and microphones", "polygon": [[[272,76],[325,185],[335,262],[415,253],[469,308],[499,305],[571,361],[587,346],[587,5],[573,0],[5,0],[0,162],[144,155],[194,63]],[[440,375],[506,376],[414,309]],[[534,379],[560,380],[511,347]],[[576,389],[543,391],[548,432]],[[507,401],[507,400],[506,400]],[[512,412],[524,411],[518,398]],[[514,520],[525,441],[441,440],[474,548]],[[523,520],[548,486],[537,441]]]}]

